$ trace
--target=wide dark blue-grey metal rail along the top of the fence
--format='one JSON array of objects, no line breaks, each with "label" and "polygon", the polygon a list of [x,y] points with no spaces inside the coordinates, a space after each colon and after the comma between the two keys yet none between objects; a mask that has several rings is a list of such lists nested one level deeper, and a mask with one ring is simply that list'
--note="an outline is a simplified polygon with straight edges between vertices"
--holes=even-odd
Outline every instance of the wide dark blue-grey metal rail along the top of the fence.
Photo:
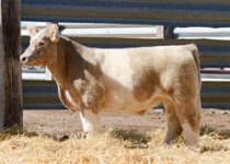
[{"label": "wide dark blue-grey metal rail along the top of the fence", "polygon": [[230,26],[229,0],[22,0],[23,21]]}]

